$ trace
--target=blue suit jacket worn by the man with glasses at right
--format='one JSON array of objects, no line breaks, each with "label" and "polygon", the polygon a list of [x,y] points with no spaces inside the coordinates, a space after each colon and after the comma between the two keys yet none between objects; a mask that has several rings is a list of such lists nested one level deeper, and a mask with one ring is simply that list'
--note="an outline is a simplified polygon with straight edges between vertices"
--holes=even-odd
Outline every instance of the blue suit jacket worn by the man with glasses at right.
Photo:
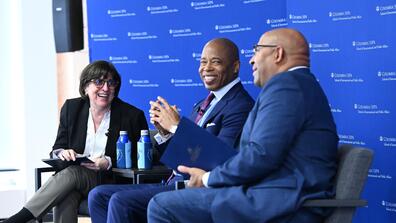
[{"label": "blue suit jacket worn by the man with glasses at right", "polygon": [[310,71],[274,76],[243,127],[239,153],[209,175],[208,185],[216,190],[212,219],[313,222],[313,211],[325,213],[299,208],[306,199],[334,195],[337,144],[329,103]]}]

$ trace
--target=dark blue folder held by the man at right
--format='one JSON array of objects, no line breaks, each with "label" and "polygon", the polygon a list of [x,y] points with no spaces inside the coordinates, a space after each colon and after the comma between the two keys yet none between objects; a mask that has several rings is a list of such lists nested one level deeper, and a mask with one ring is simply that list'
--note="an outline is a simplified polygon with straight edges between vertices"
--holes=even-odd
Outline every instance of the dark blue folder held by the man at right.
[{"label": "dark blue folder held by the man at right", "polygon": [[236,149],[189,119],[182,118],[160,161],[174,170],[185,165],[210,171],[235,154]]}]

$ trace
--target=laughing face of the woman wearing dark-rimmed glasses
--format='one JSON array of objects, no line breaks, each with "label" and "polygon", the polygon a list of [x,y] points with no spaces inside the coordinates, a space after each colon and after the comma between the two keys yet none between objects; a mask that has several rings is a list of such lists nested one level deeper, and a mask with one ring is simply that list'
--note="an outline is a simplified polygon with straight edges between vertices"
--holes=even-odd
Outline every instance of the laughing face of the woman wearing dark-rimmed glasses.
[{"label": "laughing face of the woman wearing dark-rimmed glasses", "polygon": [[[85,88],[85,92],[89,98],[92,108],[97,110],[104,110],[110,107],[111,102],[115,97],[115,87],[110,86],[108,80],[112,79],[110,75],[101,77],[99,80],[92,80]],[[102,81],[104,83],[101,83]],[[99,84],[101,83],[101,84]],[[101,86],[103,84],[103,86]]]}]

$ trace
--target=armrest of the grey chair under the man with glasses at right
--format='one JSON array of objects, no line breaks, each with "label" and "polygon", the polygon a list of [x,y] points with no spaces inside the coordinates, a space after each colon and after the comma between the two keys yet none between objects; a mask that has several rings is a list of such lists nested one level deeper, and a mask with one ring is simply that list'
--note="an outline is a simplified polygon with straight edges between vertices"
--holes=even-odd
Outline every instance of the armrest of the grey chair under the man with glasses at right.
[{"label": "armrest of the grey chair under the man with glasses at right", "polygon": [[363,207],[367,205],[366,200],[348,200],[348,199],[318,199],[306,200],[303,207]]}]

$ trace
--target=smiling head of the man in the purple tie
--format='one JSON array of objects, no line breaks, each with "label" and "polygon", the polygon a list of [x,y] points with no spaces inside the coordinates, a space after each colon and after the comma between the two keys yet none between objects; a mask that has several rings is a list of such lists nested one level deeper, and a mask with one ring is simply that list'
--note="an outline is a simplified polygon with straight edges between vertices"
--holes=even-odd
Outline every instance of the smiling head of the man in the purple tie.
[{"label": "smiling head of the man in the purple tie", "polygon": [[202,51],[199,74],[205,88],[217,91],[233,81],[239,71],[239,60],[223,41],[212,40]]}]

